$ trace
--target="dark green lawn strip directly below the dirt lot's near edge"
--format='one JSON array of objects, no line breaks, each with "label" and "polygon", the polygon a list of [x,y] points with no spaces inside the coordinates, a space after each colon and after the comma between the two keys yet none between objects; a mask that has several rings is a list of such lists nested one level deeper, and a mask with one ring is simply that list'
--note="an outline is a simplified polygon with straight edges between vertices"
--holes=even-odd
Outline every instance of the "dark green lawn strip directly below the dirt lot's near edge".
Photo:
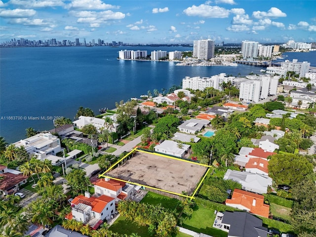
[{"label": "dark green lawn strip directly below the dirt lot's near edge", "polygon": [[141,202],[152,205],[161,203],[162,207],[174,210],[180,201],[175,198],[165,197],[156,193],[148,192]]}]

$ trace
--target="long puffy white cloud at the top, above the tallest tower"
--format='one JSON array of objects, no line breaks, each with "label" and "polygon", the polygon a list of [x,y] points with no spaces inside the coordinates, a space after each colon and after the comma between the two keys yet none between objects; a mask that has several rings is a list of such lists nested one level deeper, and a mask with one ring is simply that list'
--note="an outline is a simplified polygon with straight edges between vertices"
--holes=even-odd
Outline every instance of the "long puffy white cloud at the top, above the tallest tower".
[{"label": "long puffy white cloud at the top, above the tallest tower", "polygon": [[226,18],[229,16],[229,10],[219,6],[209,6],[200,4],[193,5],[183,11],[188,16],[199,16],[207,18]]}]

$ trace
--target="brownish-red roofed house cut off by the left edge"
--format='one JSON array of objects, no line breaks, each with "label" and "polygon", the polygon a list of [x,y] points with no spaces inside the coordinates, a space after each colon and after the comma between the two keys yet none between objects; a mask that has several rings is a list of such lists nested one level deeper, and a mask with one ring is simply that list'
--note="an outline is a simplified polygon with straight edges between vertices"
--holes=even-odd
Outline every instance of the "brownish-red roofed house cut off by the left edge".
[{"label": "brownish-red roofed house cut off by the left edge", "polygon": [[24,176],[20,171],[15,169],[8,169],[4,165],[0,165],[0,180],[1,194],[8,195],[20,189],[20,186],[27,183],[28,176]]}]

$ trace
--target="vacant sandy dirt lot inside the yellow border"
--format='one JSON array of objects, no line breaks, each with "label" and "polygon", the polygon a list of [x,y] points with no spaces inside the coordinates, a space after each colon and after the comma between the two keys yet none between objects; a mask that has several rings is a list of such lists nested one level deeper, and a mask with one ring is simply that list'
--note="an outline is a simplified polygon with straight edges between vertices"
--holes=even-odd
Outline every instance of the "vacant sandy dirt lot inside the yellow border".
[{"label": "vacant sandy dirt lot inside the yellow border", "polygon": [[191,195],[205,171],[206,167],[198,164],[137,152],[133,158],[105,175],[178,194],[185,191]]}]

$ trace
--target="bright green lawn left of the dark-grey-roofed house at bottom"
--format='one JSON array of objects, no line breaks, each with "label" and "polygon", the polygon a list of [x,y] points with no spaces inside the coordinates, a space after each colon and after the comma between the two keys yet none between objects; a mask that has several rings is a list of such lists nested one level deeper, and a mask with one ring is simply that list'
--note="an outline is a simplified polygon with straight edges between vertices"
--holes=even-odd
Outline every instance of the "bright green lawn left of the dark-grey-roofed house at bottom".
[{"label": "bright green lawn left of the dark-grey-roofed house at bottom", "polygon": [[212,227],[216,216],[214,211],[213,209],[197,206],[192,217],[190,219],[185,218],[182,227],[214,237],[227,237],[228,233]]}]

